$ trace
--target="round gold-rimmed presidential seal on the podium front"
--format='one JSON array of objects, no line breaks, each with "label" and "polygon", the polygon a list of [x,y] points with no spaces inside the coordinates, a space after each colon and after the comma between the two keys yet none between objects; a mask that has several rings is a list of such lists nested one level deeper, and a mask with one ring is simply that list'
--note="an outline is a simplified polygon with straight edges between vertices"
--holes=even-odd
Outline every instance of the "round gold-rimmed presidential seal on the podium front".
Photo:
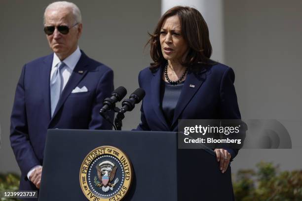
[{"label": "round gold-rimmed presidential seal on the podium front", "polygon": [[132,172],[131,162],[121,150],[101,146],[84,159],[80,186],[89,201],[120,201],[130,189]]}]

